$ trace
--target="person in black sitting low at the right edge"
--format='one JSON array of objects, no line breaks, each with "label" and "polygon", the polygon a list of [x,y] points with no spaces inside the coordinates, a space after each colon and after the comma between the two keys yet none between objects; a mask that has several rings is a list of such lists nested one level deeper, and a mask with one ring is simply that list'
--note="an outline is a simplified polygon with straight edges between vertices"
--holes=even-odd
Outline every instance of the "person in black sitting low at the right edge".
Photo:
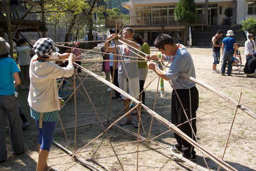
[{"label": "person in black sitting low at the right edge", "polygon": [[244,67],[244,73],[247,77],[256,78],[256,52],[253,53],[253,56],[248,57]]}]

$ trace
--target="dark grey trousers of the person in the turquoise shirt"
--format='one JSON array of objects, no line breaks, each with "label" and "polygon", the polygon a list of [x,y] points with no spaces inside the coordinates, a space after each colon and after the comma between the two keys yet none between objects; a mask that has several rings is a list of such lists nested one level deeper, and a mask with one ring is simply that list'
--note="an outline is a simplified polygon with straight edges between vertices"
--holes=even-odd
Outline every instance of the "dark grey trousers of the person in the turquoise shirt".
[{"label": "dark grey trousers of the person in the turquoise shirt", "polygon": [[7,159],[5,143],[6,116],[9,120],[12,151],[14,154],[24,152],[22,126],[19,122],[18,99],[14,95],[0,96],[0,161]]}]

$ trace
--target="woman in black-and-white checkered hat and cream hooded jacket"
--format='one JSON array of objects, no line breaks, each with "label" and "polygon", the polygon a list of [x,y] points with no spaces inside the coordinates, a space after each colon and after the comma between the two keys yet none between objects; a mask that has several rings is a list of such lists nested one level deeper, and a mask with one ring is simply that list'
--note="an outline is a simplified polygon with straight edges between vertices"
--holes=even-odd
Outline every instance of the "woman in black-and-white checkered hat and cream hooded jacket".
[{"label": "woman in black-and-white checkered hat and cream hooded jacket", "polygon": [[55,44],[50,38],[40,38],[33,46],[35,55],[30,63],[30,90],[28,102],[31,117],[35,120],[39,133],[37,171],[54,170],[47,164],[50,152],[60,100],[57,90],[56,78],[70,77],[74,73],[74,54],[69,56],[67,67],[59,67],[50,62],[52,54],[56,51]]}]

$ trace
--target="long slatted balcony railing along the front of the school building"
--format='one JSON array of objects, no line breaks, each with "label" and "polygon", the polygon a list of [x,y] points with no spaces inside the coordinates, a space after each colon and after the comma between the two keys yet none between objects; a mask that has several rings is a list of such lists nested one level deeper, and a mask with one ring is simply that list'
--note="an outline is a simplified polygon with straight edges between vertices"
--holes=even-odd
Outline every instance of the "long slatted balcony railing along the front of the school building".
[{"label": "long slatted balcony railing along the front of the school building", "polygon": [[[177,26],[185,25],[184,22],[178,22],[174,19],[174,15],[165,16],[125,16],[125,17],[106,17],[106,27],[115,27],[116,23],[121,26]],[[205,15],[198,14],[197,21],[193,25],[207,25]]]}]

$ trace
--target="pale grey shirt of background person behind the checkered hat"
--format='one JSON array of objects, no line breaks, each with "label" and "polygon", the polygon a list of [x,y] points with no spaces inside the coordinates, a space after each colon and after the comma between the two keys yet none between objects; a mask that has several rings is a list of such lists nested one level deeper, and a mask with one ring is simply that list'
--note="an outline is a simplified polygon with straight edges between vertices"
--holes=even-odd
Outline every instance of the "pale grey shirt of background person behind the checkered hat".
[{"label": "pale grey shirt of background person behind the checkered hat", "polygon": [[27,46],[19,46],[17,47],[18,53],[18,64],[20,66],[27,66],[30,63],[30,48]]}]

